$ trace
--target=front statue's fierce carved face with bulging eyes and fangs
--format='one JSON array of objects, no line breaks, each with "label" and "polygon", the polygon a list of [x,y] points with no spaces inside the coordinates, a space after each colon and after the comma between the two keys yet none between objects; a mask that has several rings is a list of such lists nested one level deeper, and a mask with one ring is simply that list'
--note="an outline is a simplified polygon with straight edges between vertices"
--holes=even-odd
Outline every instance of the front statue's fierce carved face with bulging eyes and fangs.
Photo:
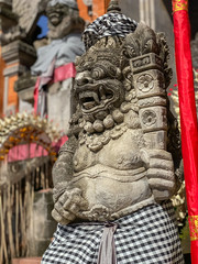
[{"label": "front statue's fierce carved face with bulging eyes and fangs", "polygon": [[75,91],[84,114],[119,107],[123,101],[119,57],[109,53],[87,53],[77,62]]}]

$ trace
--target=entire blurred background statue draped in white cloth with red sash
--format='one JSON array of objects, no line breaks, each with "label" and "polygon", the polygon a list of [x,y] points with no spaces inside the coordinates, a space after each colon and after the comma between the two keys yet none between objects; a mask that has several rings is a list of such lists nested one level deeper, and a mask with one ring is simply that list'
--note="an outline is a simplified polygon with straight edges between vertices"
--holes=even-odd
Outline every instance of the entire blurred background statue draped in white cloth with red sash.
[{"label": "entire blurred background statue draped in white cloth with red sash", "polygon": [[[47,45],[38,47],[37,61],[32,66],[32,75],[42,78],[40,82],[40,95],[37,112],[43,116],[47,113],[51,120],[56,120],[59,128],[67,132],[68,120],[72,114],[70,92],[75,72],[73,67],[61,68],[74,63],[77,55],[84,52],[84,44],[80,40],[84,30],[84,20],[79,18],[78,7],[74,0],[51,0],[46,8],[48,18]],[[53,75],[57,70],[64,72],[61,79],[55,80],[52,86]],[[68,72],[68,76],[67,76]],[[46,99],[47,97],[47,99]]]}]

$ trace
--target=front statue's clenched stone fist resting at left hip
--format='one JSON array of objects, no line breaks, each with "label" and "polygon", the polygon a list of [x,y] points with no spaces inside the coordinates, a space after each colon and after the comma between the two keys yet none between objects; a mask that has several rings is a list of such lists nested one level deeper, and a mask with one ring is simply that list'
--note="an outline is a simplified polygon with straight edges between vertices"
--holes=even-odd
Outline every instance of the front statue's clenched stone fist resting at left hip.
[{"label": "front statue's clenched stone fist resting at left hip", "polygon": [[80,189],[66,189],[55,202],[52,216],[57,222],[68,224],[86,207],[87,202]]}]

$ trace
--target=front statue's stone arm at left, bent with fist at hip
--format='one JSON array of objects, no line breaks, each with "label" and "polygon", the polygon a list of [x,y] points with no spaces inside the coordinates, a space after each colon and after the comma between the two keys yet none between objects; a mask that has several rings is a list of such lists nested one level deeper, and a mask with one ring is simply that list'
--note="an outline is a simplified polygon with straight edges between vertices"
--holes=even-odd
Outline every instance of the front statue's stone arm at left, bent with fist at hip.
[{"label": "front statue's stone arm at left, bent with fist at hip", "polygon": [[62,146],[58,160],[53,167],[54,209],[52,216],[62,224],[75,220],[76,213],[87,205],[81,197],[81,190],[74,188],[70,184],[73,178],[73,156],[76,147],[77,140],[75,136],[70,136]]}]

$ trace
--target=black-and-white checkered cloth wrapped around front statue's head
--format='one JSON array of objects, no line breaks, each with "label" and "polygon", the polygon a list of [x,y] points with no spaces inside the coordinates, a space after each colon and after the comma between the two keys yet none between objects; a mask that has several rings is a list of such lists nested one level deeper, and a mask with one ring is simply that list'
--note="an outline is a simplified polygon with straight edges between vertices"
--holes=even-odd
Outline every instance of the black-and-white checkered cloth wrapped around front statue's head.
[{"label": "black-and-white checkered cloth wrapped around front statue's head", "polygon": [[121,36],[135,31],[138,23],[122,13],[107,13],[97,18],[82,33],[82,42],[88,50],[105,36]]}]

